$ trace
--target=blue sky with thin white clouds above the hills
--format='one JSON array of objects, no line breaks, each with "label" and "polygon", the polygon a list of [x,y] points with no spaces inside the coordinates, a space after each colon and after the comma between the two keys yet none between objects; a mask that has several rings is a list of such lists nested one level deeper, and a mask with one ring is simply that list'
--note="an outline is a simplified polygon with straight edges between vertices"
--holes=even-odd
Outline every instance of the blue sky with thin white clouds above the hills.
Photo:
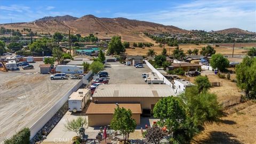
[{"label": "blue sky with thin white clouds above the hills", "polygon": [[45,16],[124,17],[182,29],[256,31],[256,1],[0,1],[0,23]]}]

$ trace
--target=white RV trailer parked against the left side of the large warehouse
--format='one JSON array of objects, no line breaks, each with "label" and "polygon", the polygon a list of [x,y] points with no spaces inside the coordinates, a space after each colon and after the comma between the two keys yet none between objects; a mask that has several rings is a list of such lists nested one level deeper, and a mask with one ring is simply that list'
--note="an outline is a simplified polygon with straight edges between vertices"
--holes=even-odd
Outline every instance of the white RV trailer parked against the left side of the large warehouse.
[{"label": "white RV trailer parked against the left side of the large warehouse", "polygon": [[90,89],[78,89],[73,92],[68,99],[68,111],[83,111],[86,103],[90,100],[91,90]]}]

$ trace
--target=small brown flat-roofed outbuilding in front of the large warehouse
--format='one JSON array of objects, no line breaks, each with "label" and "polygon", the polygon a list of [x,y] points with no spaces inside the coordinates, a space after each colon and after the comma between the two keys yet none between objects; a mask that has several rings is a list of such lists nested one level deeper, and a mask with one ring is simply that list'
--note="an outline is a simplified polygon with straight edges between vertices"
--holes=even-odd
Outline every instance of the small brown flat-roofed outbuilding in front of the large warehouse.
[{"label": "small brown flat-roofed outbuilding in front of the large warehouse", "polygon": [[140,103],[93,103],[91,102],[86,115],[88,116],[89,126],[107,126],[110,125],[115,108],[125,108],[132,111],[132,118],[136,124],[140,125],[141,106]]}]

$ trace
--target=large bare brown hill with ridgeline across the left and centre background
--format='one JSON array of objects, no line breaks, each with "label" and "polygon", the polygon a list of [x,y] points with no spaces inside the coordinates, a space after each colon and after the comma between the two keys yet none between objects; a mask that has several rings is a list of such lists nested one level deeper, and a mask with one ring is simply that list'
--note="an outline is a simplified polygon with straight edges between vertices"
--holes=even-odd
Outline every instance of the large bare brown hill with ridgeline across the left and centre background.
[{"label": "large bare brown hill with ridgeline across the left and centre background", "polygon": [[[98,34],[98,37],[110,37],[119,35],[126,37],[128,41],[140,41],[145,39],[141,32],[148,33],[188,33],[188,30],[174,26],[165,26],[154,22],[130,20],[126,18],[98,18],[94,15],[84,15],[81,18],[70,15],[57,17],[44,17],[33,22],[5,23],[1,26],[9,29],[31,28],[37,33],[51,33],[56,31],[68,33],[70,29],[73,34],[88,35]],[[138,39],[139,38],[139,39]]]}]

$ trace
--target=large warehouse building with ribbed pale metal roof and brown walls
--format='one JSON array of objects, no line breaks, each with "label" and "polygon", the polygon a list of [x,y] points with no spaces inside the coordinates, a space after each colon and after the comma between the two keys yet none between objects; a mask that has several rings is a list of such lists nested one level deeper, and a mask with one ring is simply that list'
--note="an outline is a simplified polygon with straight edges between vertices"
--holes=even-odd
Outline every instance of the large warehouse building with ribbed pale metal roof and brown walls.
[{"label": "large warehouse building with ribbed pale metal roof and brown walls", "polygon": [[165,84],[102,84],[93,94],[94,103],[140,103],[142,114],[153,114],[156,102],[174,95]]}]

